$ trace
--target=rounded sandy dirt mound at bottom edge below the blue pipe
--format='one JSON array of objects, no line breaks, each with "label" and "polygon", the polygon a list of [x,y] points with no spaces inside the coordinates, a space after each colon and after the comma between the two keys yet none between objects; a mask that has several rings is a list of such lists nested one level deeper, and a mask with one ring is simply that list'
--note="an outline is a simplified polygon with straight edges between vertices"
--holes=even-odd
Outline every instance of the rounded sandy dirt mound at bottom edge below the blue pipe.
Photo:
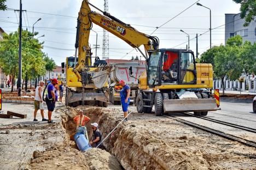
[{"label": "rounded sandy dirt mound at bottom edge below the blue pipe", "polygon": [[101,169],[112,169],[119,170],[123,169],[118,162],[117,158],[106,150],[92,148],[84,153],[86,161],[90,169],[101,170]]}]

